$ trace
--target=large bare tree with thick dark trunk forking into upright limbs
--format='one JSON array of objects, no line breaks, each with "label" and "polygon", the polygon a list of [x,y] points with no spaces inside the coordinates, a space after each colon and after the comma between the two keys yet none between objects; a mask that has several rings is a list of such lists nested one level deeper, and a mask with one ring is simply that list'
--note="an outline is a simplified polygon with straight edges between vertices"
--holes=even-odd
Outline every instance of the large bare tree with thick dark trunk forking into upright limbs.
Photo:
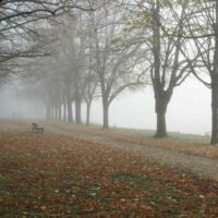
[{"label": "large bare tree with thick dark trunk forking into upright limbs", "polygon": [[145,50],[144,60],[155,93],[157,132],[155,137],[167,136],[166,112],[173,90],[189,76],[190,71],[181,49],[185,39],[175,36],[184,31],[189,0],[137,1],[128,4],[130,16],[125,17],[130,39],[126,46],[141,44]]}]

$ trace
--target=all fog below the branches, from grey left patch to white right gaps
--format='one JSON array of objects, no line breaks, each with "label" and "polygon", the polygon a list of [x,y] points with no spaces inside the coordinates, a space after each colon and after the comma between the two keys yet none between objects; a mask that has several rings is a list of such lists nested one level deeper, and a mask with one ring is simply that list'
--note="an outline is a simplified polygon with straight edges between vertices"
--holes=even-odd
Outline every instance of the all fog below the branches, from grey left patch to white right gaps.
[{"label": "all fog below the branches, from grey left patch to white right gaps", "polygon": [[[45,119],[40,100],[21,94],[20,85],[0,90],[0,117],[13,119]],[[125,92],[110,107],[110,126],[156,129],[155,101],[152,86],[140,92]],[[101,101],[95,100],[90,122],[102,123]],[[85,122],[85,105],[82,117]],[[210,90],[194,78],[175,88],[167,112],[167,129],[172,132],[205,134],[210,132]]]}]

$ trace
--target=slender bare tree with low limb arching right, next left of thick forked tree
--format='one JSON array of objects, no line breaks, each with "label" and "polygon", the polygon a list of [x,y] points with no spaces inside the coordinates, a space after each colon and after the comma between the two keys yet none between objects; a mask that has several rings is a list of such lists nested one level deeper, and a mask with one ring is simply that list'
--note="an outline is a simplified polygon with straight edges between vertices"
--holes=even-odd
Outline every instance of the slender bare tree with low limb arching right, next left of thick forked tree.
[{"label": "slender bare tree with low limb arching right, next left of thick forked tree", "polygon": [[[138,85],[138,76],[134,73],[135,63],[131,58],[136,47],[117,49],[123,34],[120,24],[119,9],[106,4],[96,12],[90,12],[90,28],[95,65],[102,100],[102,128],[109,128],[109,106],[125,88]],[[119,11],[120,12],[120,11]],[[121,14],[122,15],[122,14]]]}]

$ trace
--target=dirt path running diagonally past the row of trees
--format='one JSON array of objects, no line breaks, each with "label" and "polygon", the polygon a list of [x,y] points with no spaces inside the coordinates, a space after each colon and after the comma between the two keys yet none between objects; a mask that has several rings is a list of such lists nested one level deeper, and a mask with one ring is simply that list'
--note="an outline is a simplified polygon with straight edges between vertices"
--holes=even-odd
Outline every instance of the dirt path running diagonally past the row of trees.
[{"label": "dirt path running diagonally past the row of trees", "polygon": [[210,178],[216,181],[218,180],[218,158],[208,158],[168,148],[126,143],[123,141],[112,140],[104,135],[82,133],[75,130],[72,131],[55,125],[47,124],[45,128],[58,134],[65,134],[80,140],[113,146],[114,148],[124,148],[129,152],[140,153],[146,159],[155,160],[164,165],[179,167],[186,172]]}]

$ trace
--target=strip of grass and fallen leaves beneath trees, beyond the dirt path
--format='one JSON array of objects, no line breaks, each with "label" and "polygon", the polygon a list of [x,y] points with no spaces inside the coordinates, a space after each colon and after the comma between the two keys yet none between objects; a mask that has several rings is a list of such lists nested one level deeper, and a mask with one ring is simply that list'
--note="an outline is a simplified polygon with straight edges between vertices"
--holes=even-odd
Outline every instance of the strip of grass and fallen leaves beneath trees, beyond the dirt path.
[{"label": "strip of grass and fallen leaves beneath trees, beyond the dirt path", "polygon": [[46,122],[45,124],[56,126],[58,130],[77,131],[85,134],[105,135],[116,141],[123,141],[146,146],[157,146],[199,156],[218,158],[217,145],[209,145],[209,136],[182,134],[169,132],[167,138],[154,138],[154,131],[110,128],[102,130],[99,125],[75,125],[60,122]]}]

